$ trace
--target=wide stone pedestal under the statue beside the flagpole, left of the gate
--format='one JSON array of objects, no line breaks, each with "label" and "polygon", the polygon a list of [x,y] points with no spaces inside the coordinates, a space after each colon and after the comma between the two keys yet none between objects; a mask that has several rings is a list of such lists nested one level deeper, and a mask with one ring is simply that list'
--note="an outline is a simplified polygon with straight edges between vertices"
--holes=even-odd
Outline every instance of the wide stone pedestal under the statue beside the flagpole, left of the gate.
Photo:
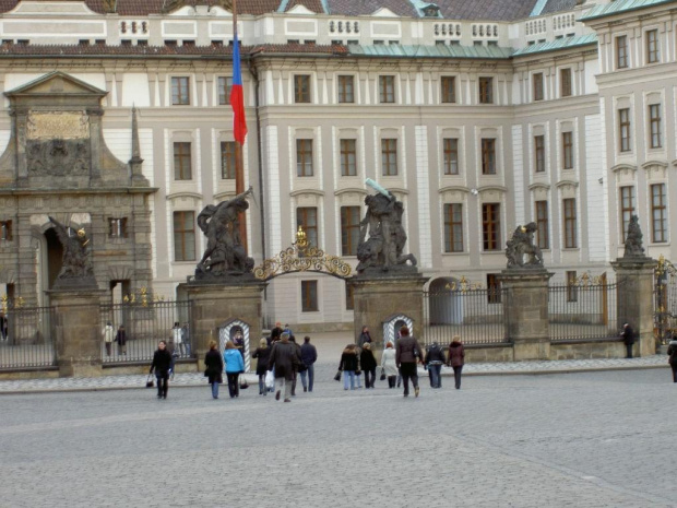
[{"label": "wide stone pedestal under the statue beside the flagpole, left of the gate", "polygon": [[250,338],[258,344],[263,330],[263,290],[266,285],[253,276],[181,284],[192,302],[192,340],[200,370],[204,370],[210,341],[218,342],[218,328],[230,319],[248,323]]}]

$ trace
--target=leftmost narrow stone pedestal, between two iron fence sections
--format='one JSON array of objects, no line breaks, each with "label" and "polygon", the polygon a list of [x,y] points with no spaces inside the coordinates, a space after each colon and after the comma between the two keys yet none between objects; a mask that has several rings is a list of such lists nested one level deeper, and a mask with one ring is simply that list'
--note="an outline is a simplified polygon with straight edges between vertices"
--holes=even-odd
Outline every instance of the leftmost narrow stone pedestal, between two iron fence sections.
[{"label": "leftmost narrow stone pedestal, between two iron fence sections", "polygon": [[102,322],[95,288],[51,291],[50,302],[61,377],[102,375]]}]

